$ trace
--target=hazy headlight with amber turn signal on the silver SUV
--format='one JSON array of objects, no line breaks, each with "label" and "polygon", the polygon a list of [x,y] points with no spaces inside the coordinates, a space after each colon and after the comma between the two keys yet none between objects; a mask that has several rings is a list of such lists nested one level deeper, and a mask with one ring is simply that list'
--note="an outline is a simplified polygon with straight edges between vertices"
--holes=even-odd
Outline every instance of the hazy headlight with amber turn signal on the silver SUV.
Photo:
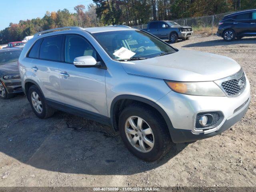
[{"label": "hazy headlight with amber turn signal on the silver SUV", "polygon": [[212,81],[208,82],[175,82],[166,81],[166,84],[175,92],[197,96],[226,96]]}]

